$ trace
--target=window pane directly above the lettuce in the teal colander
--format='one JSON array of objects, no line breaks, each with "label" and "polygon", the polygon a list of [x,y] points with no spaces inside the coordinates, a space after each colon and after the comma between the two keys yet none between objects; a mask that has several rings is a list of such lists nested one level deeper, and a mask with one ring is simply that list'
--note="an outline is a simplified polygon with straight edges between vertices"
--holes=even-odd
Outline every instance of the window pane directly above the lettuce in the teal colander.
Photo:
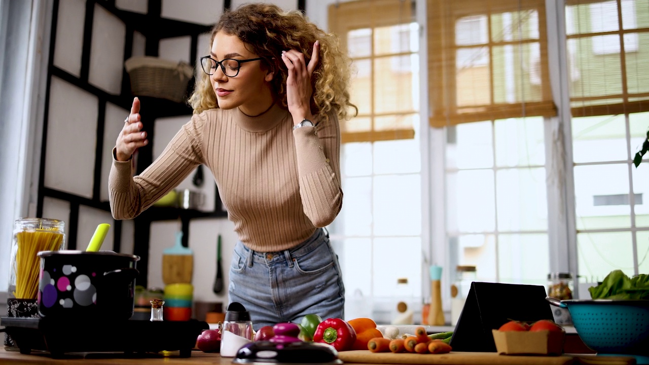
[{"label": "window pane directly above the lettuce in the teal colander", "polygon": [[578,275],[593,277],[597,281],[602,281],[609,272],[617,269],[633,275],[632,250],[630,232],[579,233]]}]

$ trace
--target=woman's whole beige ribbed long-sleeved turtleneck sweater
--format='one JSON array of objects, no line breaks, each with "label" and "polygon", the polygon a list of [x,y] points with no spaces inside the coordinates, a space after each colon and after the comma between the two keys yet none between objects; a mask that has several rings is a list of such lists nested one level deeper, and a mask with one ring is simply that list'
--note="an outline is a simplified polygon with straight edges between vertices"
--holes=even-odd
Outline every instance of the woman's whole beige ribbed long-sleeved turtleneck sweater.
[{"label": "woman's whole beige ribbed long-sleeved turtleneck sweater", "polygon": [[288,110],[261,116],[238,108],[194,114],[151,166],[132,177],[113,155],[110,208],[131,219],[183,181],[199,164],[214,175],[239,240],[255,251],[281,251],[336,218],[343,201],[336,116],[293,130]]}]

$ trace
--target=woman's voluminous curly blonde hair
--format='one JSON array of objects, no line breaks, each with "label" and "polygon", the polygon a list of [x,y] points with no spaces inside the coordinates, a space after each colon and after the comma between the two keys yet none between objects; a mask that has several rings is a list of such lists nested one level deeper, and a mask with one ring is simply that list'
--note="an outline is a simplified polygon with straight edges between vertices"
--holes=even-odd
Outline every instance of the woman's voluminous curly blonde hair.
[{"label": "woman's voluminous curly blonde hair", "polygon": [[[328,118],[330,112],[336,112],[339,119],[349,119],[351,108],[354,109],[354,116],[358,114],[358,108],[349,101],[350,58],[341,51],[334,34],[319,29],[301,12],[285,12],[271,4],[245,4],[236,10],[228,10],[221,16],[212,29],[210,45],[220,31],[237,36],[250,51],[263,58],[265,62],[262,64],[265,67],[275,72],[271,88],[276,100],[284,107],[288,107],[288,69],[280,57],[282,51],[300,51],[308,62],[313,52],[313,43],[319,40],[320,60],[312,77],[312,114],[323,114]],[[195,114],[219,107],[210,77],[204,72],[199,72],[199,75],[188,100]]]}]

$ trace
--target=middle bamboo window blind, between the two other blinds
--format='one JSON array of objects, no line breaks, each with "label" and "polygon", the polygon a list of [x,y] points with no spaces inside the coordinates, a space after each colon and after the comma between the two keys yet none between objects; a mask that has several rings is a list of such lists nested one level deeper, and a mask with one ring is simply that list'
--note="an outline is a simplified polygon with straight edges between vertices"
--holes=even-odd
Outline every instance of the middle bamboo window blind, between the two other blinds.
[{"label": "middle bamboo window blind, between the two other blinds", "polygon": [[555,116],[544,0],[428,0],[430,125]]}]

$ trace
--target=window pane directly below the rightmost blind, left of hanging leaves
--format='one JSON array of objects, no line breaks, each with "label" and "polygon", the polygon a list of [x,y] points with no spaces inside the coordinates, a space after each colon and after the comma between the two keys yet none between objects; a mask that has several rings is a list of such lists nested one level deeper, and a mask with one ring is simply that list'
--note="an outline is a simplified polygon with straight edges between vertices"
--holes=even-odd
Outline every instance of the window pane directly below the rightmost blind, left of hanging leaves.
[{"label": "window pane directly below the rightmost blind, left of hanging leaves", "polygon": [[624,115],[572,118],[574,162],[627,160]]}]

